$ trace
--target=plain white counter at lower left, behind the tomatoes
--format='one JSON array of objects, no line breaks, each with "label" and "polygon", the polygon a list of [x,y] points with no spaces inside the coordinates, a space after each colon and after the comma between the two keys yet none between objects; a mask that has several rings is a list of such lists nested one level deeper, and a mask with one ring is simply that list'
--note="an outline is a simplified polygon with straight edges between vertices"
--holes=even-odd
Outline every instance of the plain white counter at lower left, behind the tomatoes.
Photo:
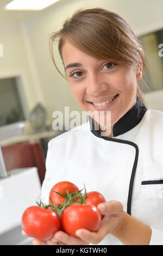
[{"label": "plain white counter at lower left, behind the tomatoes", "polygon": [[10,176],[0,179],[0,235],[21,225],[24,210],[37,205],[40,193],[36,167],[15,169]]}]

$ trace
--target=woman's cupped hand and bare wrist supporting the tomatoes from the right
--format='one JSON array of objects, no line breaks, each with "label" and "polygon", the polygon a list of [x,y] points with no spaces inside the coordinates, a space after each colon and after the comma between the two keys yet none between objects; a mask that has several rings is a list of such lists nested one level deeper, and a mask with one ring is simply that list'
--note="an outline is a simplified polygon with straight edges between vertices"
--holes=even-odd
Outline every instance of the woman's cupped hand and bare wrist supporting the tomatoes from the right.
[{"label": "woman's cupped hand and bare wrist supporting the tomatoes from the right", "polygon": [[76,239],[58,231],[55,233],[54,239],[66,245],[89,245],[89,243],[97,245],[106,235],[112,234],[123,245],[149,245],[152,234],[151,228],[123,211],[123,205],[120,202],[102,203],[97,208],[104,215],[101,227],[97,232],[78,229],[76,235],[79,239]]}]

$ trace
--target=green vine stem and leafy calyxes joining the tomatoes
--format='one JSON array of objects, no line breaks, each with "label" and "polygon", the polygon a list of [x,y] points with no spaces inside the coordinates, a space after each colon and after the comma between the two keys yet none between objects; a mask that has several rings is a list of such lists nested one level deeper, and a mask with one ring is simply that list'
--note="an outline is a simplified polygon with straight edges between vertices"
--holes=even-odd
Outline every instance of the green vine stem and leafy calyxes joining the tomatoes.
[{"label": "green vine stem and leafy calyxes joining the tomatoes", "polygon": [[61,194],[57,191],[53,191],[54,193],[57,193],[60,196],[65,198],[64,203],[59,203],[57,206],[54,205],[51,198],[50,198],[51,204],[46,205],[41,201],[41,199],[40,199],[40,202],[36,202],[36,204],[44,209],[50,209],[52,211],[57,212],[57,215],[61,217],[62,213],[68,206],[72,204],[86,204],[85,199],[86,199],[87,192],[86,192],[85,185],[84,185],[84,194],[80,193],[82,190],[75,191],[72,193],[69,193],[69,191],[66,190],[66,194]]}]

